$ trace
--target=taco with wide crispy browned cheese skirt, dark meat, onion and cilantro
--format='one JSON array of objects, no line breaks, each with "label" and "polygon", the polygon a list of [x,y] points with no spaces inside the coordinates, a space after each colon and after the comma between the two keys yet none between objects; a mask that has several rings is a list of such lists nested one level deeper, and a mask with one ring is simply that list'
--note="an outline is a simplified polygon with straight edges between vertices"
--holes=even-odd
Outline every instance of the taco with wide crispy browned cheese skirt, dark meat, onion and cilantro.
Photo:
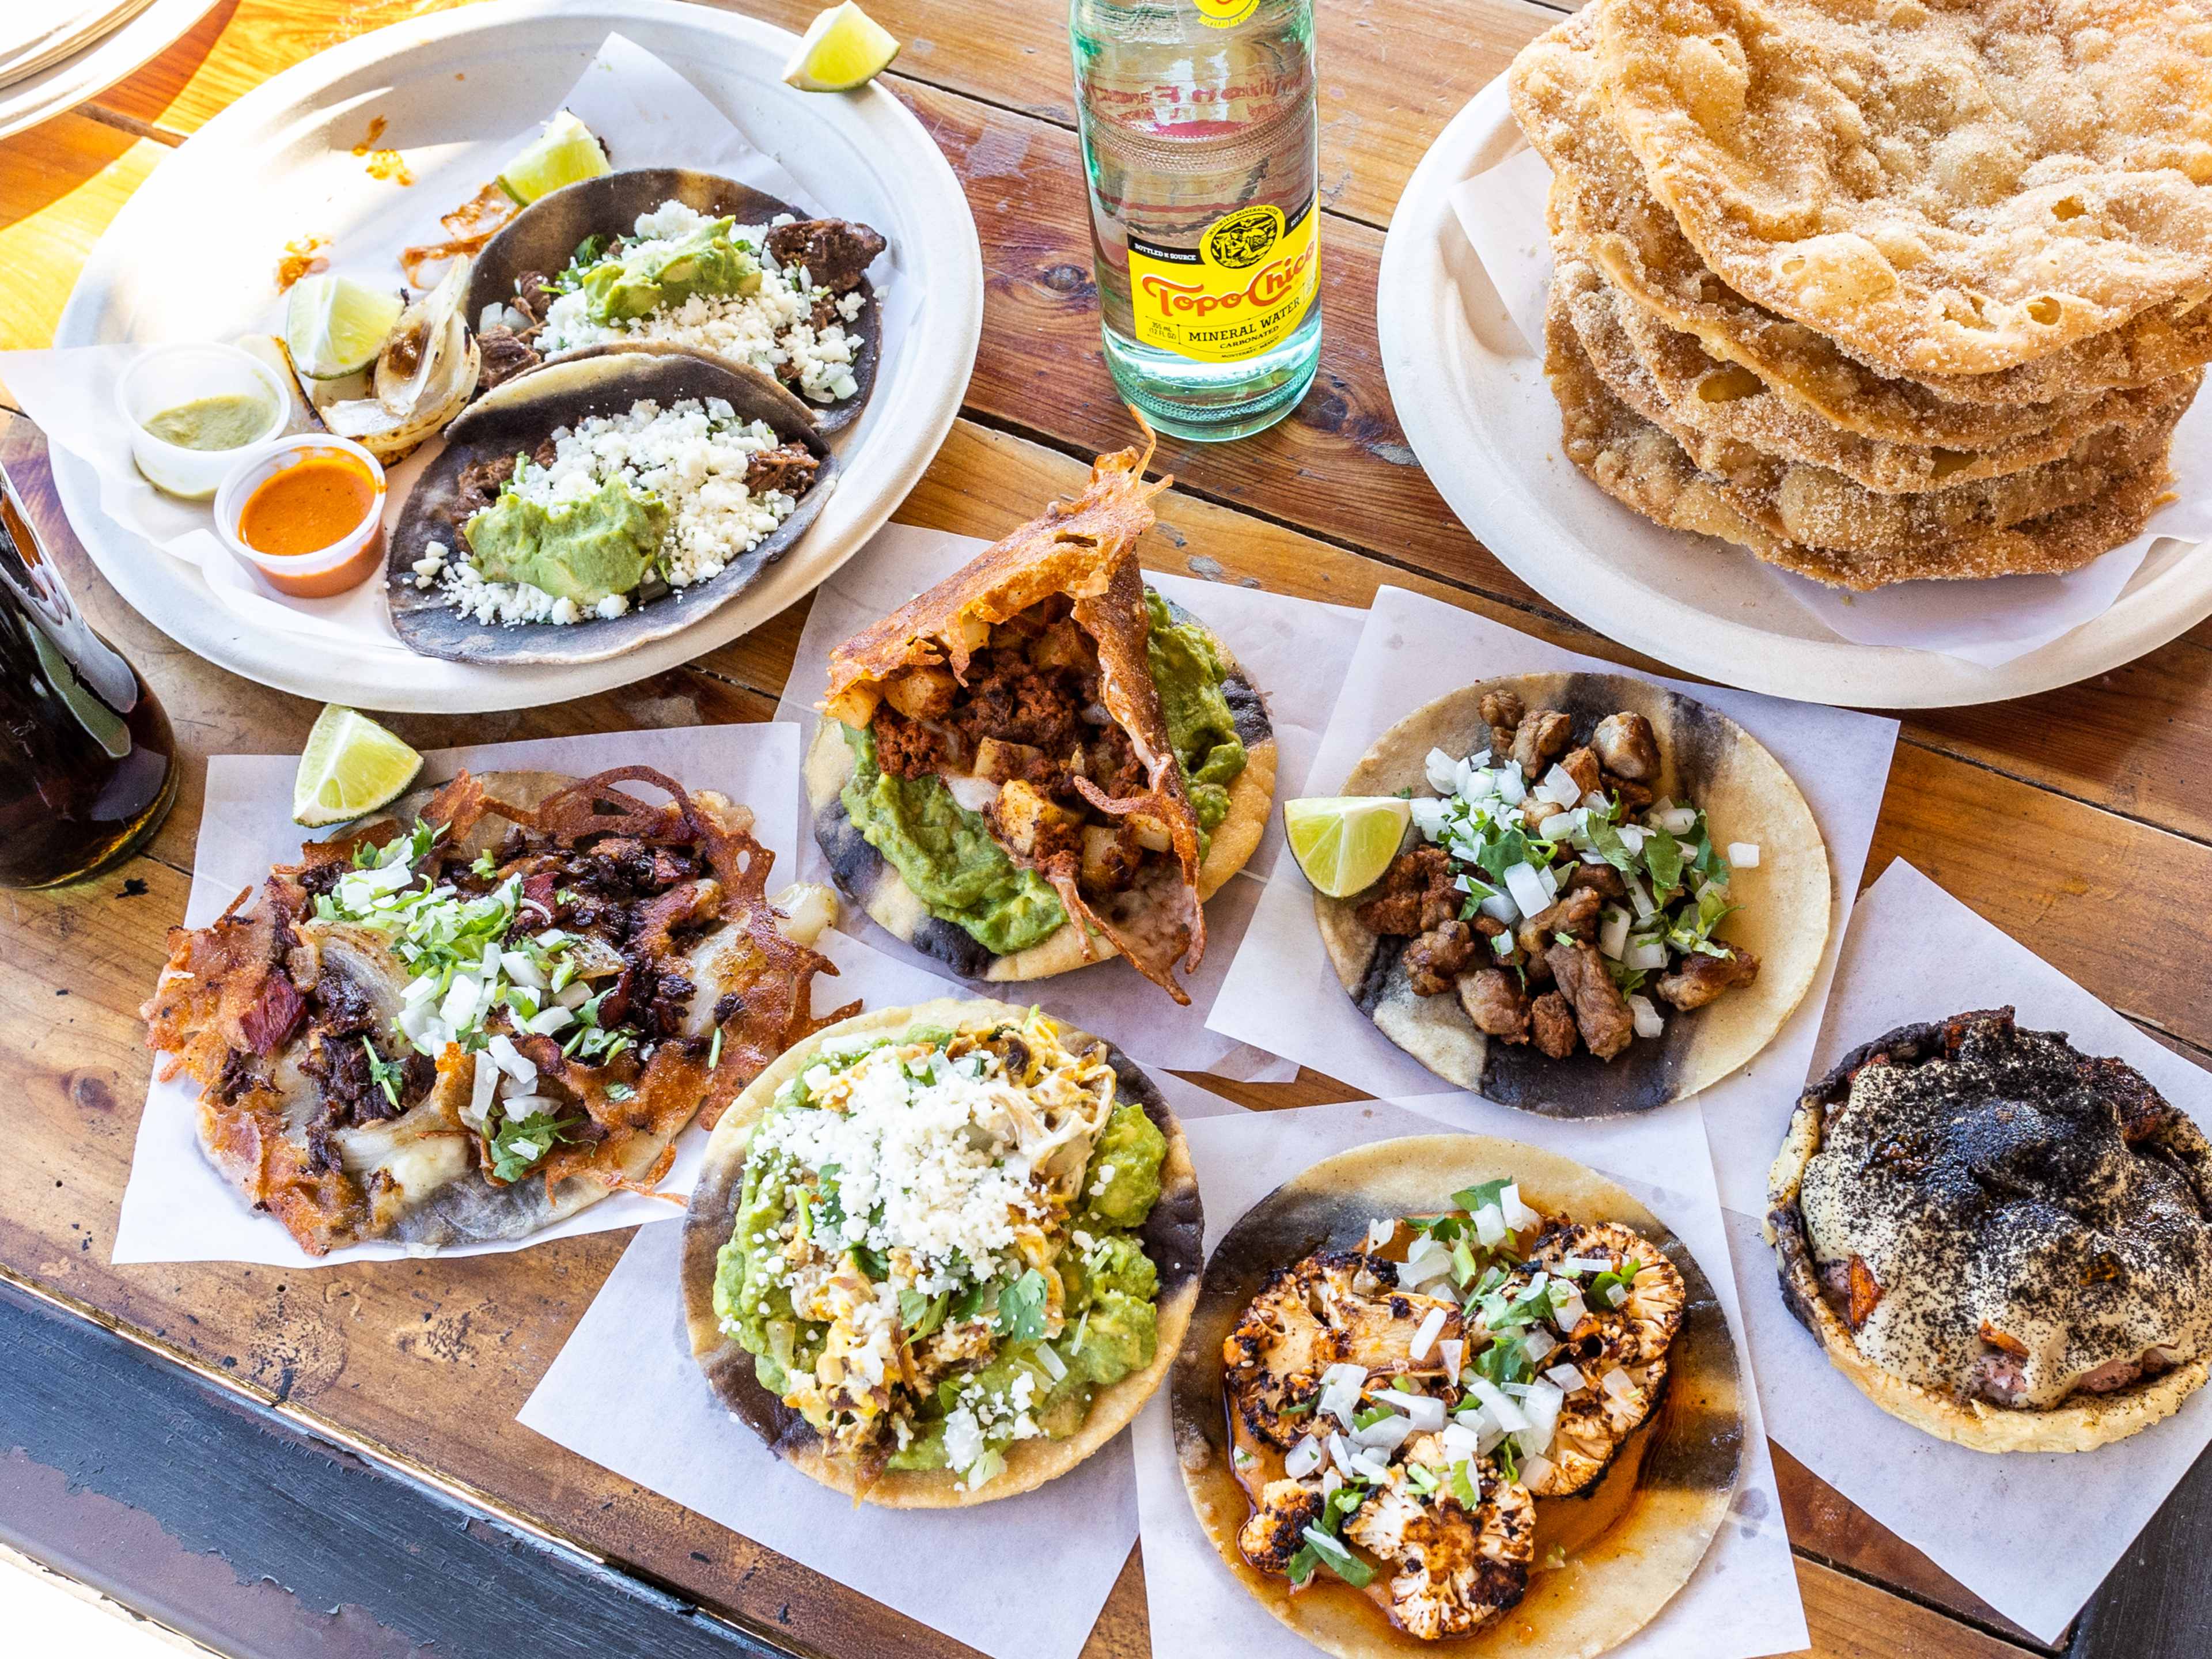
[{"label": "taco with wide crispy browned cheese skirt, dark meat, onion and cilantro", "polygon": [[770,905],[750,825],[641,765],[462,772],[173,929],[146,1042],[307,1254],[520,1239],[648,1190],[692,1117],[818,1029],[836,902]]}]

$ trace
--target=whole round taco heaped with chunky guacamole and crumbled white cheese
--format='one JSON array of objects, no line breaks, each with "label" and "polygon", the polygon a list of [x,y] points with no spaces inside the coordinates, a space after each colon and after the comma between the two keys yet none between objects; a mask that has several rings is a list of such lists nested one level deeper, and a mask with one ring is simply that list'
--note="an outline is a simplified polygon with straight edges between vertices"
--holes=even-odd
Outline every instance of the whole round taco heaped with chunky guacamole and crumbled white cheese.
[{"label": "whole round taco heaped with chunky guacamole and crumbled white cheese", "polygon": [[1108,1042],[1006,1002],[794,1046],[708,1144],[684,1310],[714,1394],[887,1509],[1011,1498],[1152,1396],[1199,1294],[1175,1115]]}]

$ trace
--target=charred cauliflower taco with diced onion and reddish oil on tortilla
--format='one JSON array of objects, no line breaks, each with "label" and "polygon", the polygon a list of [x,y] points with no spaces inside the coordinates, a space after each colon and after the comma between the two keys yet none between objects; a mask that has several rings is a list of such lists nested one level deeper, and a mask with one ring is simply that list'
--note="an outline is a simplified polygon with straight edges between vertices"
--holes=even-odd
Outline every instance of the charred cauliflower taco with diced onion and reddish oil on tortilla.
[{"label": "charred cauliflower taco with diced onion and reddish oil on tortilla", "polygon": [[1712,1283],[1628,1192],[1520,1141],[1418,1135],[1230,1228],[1170,1402],[1199,1524],[1314,1646],[1584,1659],[1703,1557],[1741,1389]]}]

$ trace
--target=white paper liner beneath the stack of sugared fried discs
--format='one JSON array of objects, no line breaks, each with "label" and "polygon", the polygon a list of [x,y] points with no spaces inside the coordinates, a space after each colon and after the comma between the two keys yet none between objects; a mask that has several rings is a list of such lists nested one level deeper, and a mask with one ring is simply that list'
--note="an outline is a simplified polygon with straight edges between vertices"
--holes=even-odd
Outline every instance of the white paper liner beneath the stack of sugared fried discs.
[{"label": "white paper liner beneath the stack of sugared fried discs", "polygon": [[[1460,228],[1498,285],[1531,358],[1544,356],[1544,294],[1551,288],[1551,239],[1544,192],[1551,168],[1522,146],[1489,173],[1451,192]],[[1986,582],[1902,582],[1876,593],[1847,593],[1734,551],[1745,573],[1785,591],[1838,637],[1860,646],[1911,646],[1964,657],[1984,668],[2026,657],[2112,608],[2159,538],[2212,538],[2212,411],[2194,407],[2174,429],[2177,498],[2150,529],[2068,575],[2006,575]],[[1597,489],[1579,473],[1562,482]],[[1624,507],[1621,513],[1628,513]]]}]

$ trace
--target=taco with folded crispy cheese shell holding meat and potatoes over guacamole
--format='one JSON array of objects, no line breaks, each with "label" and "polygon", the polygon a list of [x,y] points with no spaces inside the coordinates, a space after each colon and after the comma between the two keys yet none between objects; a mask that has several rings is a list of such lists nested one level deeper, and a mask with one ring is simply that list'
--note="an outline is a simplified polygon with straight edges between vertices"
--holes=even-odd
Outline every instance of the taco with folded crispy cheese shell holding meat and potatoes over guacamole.
[{"label": "taco with folded crispy cheese shell holding meat and potatoes over guacamole", "polygon": [[830,653],[814,838],[887,931],[975,980],[1128,956],[1177,1002],[1274,801],[1228,646],[1144,586],[1150,451]]}]

